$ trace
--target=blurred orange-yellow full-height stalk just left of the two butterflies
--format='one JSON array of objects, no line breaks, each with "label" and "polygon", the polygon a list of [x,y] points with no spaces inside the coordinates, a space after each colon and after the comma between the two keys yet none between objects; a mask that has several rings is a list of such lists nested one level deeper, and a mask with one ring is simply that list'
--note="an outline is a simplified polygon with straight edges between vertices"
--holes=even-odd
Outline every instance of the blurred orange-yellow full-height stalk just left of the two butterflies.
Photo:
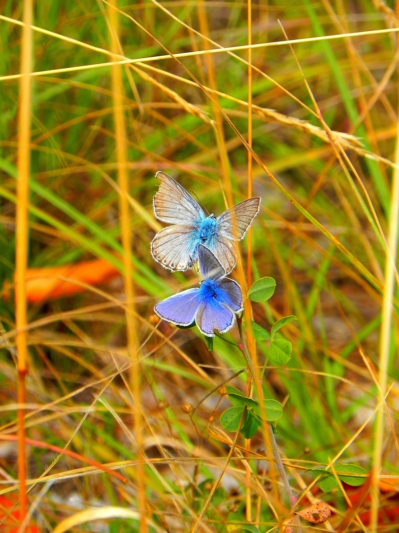
[{"label": "blurred orange-yellow full-height stalk just left of the two butterflies", "polygon": [[[112,0],[108,7],[111,32],[111,51],[115,56],[119,54],[119,21],[117,0]],[[124,289],[126,292],[126,327],[128,338],[128,352],[134,365],[131,368],[131,381],[134,396],[134,427],[136,439],[136,456],[137,456],[137,492],[138,506],[140,515],[140,533],[147,531],[146,519],[146,497],[145,497],[145,471],[144,471],[144,449],[143,449],[143,421],[140,395],[140,366],[138,338],[135,324],[134,309],[134,286],[132,277],[131,238],[130,238],[130,214],[129,214],[129,180],[127,173],[127,139],[126,123],[123,109],[123,85],[121,77],[122,67],[118,64],[112,65],[112,95],[113,95],[113,115],[115,126],[115,143],[117,149],[118,162],[118,185],[120,188],[119,210],[121,236],[123,246],[123,265],[124,265]]]}]

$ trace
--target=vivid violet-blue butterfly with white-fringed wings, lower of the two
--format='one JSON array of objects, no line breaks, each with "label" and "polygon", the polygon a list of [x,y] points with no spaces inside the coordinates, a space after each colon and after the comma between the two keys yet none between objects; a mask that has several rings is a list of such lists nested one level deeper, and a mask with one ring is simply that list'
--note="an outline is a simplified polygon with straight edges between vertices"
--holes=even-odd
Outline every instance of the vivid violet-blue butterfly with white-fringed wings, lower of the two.
[{"label": "vivid violet-blue butterfly with white-fringed wings, lower of the two", "polygon": [[213,337],[213,330],[227,332],[243,310],[243,295],[238,283],[226,278],[226,271],[206,246],[198,245],[200,272],[204,278],[200,287],[169,296],[154,307],[156,314],[176,324],[190,326],[194,320],[201,333]]}]

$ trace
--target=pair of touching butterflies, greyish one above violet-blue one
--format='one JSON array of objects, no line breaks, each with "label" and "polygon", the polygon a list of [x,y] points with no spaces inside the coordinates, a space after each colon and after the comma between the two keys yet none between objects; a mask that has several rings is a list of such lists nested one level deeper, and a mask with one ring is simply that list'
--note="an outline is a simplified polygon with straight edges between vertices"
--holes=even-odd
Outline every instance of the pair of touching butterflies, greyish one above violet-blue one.
[{"label": "pair of touching butterflies, greyish one above violet-blue one", "polygon": [[259,212],[261,198],[249,198],[216,217],[206,216],[189,193],[164,172],[154,196],[157,219],[173,224],[157,233],[151,243],[155,261],[170,270],[187,270],[198,259],[204,278],[200,287],[184,290],[154,307],[156,314],[178,326],[195,321],[206,336],[213,330],[227,332],[235,313],[242,310],[242,293],[236,281],[227,278],[234,269],[234,240],[242,240]]}]

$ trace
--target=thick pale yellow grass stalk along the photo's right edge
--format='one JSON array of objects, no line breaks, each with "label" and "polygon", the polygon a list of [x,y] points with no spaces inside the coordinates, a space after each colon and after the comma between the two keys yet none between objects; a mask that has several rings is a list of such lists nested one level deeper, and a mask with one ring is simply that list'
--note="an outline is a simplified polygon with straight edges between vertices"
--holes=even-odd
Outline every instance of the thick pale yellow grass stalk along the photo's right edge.
[{"label": "thick pale yellow grass stalk along the photo's right edge", "polygon": [[[399,163],[399,121],[397,123],[397,140],[395,163]],[[397,256],[397,233],[399,223],[399,169],[394,168],[392,192],[390,197],[390,217],[388,228],[388,246],[385,256],[385,283],[383,316],[380,332],[379,369],[378,369],[378,393],[381,405],[377,411],[375,425],[375,444],[373,454],[373,469],[371,478],[371,510],[370,531],[377,532],[378,508],[379,508],[379,475],[382,465],[384,445],[384,415],[385,395],[387,389],[387,372],[389,359],[390,331],[392,326],[392,298],[395,292],[395,270]]]}]

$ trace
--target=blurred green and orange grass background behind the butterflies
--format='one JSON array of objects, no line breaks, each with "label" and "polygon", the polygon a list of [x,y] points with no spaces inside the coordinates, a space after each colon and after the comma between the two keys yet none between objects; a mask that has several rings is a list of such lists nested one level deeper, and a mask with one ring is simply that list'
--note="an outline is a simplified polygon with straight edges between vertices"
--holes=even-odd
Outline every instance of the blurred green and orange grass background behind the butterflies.
[{"label": "blurred green and orange grass background behind the butterflies", "polygon": [[[23,2],[0,5],[0,435],[15,435],[13,275]],[[28,291],[25,424],[27,437],[43,445],[27,447],[28,505],[36,502],[40,531],[52,531],[82,509],[138,509],[132,399],[137,372],[149,530],[192,530],[232,438],[219,424],[229,407],[220,387],[245,366],[236,329],[226,335],[232,344],[215,338],[209,352],[196,328],[159,324],[154,304],[196,285],[197,278],[194,272],[164,270],[152,260],[149,243],[161,228],[152,209],[157,170],[193,190],[210,212],[224,211],[226,198],[247,197],[247,5],[122,0],[118,7],[119,54],[136,60],[120,67],[120,94],[139,369],[127,350],[120,160],[106,64],[113,58],[112,7],[100,0],[41,0],[34,6],[27,261],[30,269],[66,268],[32,271],[40,283]],[[367,472],[372,466],[370,415],[379,398],[385,268],[381,232],[388,231],[397,142],[398,14],[397,3],[383,0],[252,3],[252,42],[280,42],[252,50],[252,146],[276,180],[254,161],[253,195],[262,197],[262,206],[253,224],[252,280],[277,281],[273,298],[254,304],[253,313],[265,328],[281,316],[298,317],[284,332],[293,343],[292,360],[287,367],[269,365],[263,383],[266,397],[284,403],[277,441],[295,495],[315,479],[306,469],[327,466],[343,449],[338,463]],[[283,43],[282,28],[288,39],[299,40],[293,50]],[[389,28],[395,31],[379,31]],[[236,46],[243,49],[193,53]],[[240,250],[246,272],[247,238]],[[76,274],[79,265],[84,274]],[[57,294],[41,285],[46,276],[73,279],[82,290]],[[395,313],[389,386],[399,375]],[[261,366],[267,351],[267,342],[258,343]],[[230,383],[245,392],[245,373]],[[398,392],[396,384],[388,397],[383,449],[388,488],[381,485],[380,505],[394,510],[393,518],[388,511],[381,514],[380,527],[387,530],[399,522]],[[80,459],[62,455],[52,465],[57,454],[50,445],[67,446]],[[248,517],[268,531],[290,513],[284,491],[271,488],[261,432],[250,443],[248,463],[244,441],[238,445],[238,459],[230,463],[203,531],[233,531]],[[97,464],[112,467],[126,481]],[[17,479],[15,443],[0,439],[0,495],[12,503],[18,500]],[[358,496],[350,487],[324,494],[316,484],[301,505],[322,499],[333,511],[328,528],[365,530],[370,500],[363,494],[357,501]],[[351,501],[357,502],[355,512],[348,511]],[[8,527],[11,531],[15,523]],[[134,518],[116,518],[89,520],[73,530],[137,528]]]}]

